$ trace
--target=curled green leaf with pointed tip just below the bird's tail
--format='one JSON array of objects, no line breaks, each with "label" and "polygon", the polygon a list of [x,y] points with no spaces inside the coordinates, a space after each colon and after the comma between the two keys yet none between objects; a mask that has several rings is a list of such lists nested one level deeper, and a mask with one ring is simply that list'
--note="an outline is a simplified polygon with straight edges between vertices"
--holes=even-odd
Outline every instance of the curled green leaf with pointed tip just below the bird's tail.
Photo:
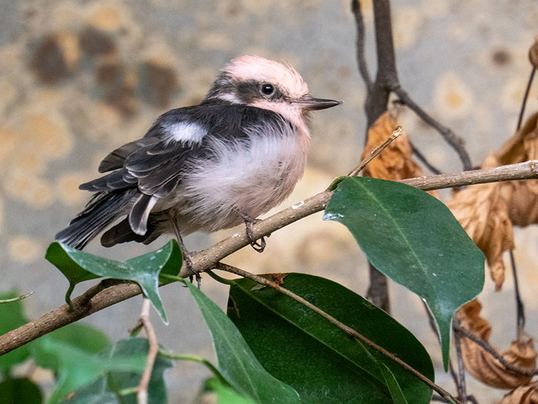
[{"label": "curled green leaf with pointed tip just below the bird's tail", "polygon": [[101,276],[132,280],[140,285],[143,294],[150,299],[163,322],[168,324],[159,296],[159,273],[162,271],[177,275],[181,269],[181,250],[175,240],[170,240],[157,251],[124,262],[94,256],[59,242],[50,244],[45,258],[68,278],[70,288],[66,299],[69,299],[74,285],[83,280]]}]

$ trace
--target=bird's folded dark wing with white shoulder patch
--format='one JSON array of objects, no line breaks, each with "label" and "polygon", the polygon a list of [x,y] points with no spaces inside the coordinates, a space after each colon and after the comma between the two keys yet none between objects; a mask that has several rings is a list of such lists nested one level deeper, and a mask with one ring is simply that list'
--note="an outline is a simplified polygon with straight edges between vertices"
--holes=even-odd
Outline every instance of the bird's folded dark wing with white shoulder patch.
[{"label": "bird's folded dark wing with white shoulder patch", "polygon": [[148,215],[159,198],[172,193],[189,164],[201,158],[212,158],[208,138],[239,140],[248,138],[253,126],[271,119],[281,120],[269,110],[223,103],[201,104],[161,115],[148,133],[110,153],[99,171],[108,175],[81,184],[88,191],[111,191],[133,188],[141,192],[129,214],[135,233],[146,233]]}]

